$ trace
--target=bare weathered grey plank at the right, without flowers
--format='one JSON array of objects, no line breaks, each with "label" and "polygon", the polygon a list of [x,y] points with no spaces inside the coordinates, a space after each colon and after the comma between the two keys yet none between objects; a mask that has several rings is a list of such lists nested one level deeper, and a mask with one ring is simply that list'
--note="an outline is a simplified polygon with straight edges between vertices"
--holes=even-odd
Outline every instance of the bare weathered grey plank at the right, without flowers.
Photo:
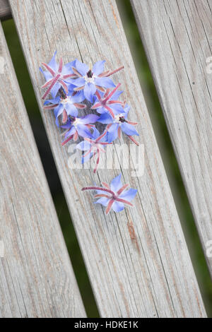
[{"label": "bare weathered grey plank at the right, without flowers", "polygon": [[[206,254],[212,239],[211,1],[131,4]],[[212,275],[212,258],[206,259]]]}]

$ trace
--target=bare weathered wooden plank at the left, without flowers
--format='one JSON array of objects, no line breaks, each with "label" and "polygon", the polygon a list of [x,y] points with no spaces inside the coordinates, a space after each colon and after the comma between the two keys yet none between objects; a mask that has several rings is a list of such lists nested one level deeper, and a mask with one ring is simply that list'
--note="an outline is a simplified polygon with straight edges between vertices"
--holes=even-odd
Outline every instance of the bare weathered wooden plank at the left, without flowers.
[{"label": "bare weathered wooden plank at the left, without flowers", "polygon": [[82,317],[1,23],[0,64],[0,316]]}]

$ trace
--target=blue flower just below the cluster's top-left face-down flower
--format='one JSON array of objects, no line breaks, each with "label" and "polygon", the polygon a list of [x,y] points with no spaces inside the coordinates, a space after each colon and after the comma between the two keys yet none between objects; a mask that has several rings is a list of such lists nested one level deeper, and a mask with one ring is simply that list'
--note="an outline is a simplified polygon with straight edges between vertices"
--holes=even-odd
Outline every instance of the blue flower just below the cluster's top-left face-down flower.
[{"label": "blue flower just below the cluster's top-left face-down flower", "polygon": [[86,105],[81,104],[84,100],[83,92],[78,93],[69,91],[63,97],[57,96],[54,99],[45,100],[44,109],[54,109],[54,116],[57,125],[59,124],[58,117],[62,114],[62,123],[66,123],[68,115],[71,117],[78,117],[78,109],[83,109]]}]

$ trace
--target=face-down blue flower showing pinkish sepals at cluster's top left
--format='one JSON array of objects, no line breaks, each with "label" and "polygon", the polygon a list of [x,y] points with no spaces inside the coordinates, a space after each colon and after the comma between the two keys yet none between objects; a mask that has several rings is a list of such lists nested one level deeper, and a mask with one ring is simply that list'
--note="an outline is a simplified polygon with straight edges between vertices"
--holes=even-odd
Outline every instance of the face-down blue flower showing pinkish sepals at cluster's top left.
[{"label": "face-down blue flower showing pinkish sepals at cluster's top left", "polygon": [[63,66],[62,59],[60,59],[59,64],[57,64],[57,61],[55,60],[56,54],[57,51],[54,52],[52,59],[49,61],[49,64],[42,62],[42,66],[47,69],[46,71],[43,71],[42,68],[40,68],[40,71],[44,74],[47,81],[44,85],[42,85],[42,88],[47,88],[47,91],[42,96],[42,99],[45,99],[49,93],[52,93],[52,97],[55,98],[59,88],[61,87],[64,88],[66,93],[68,93],[67,84],[71,83],[70,78],[76,77],[72,70],[72,67],[75,66],[76,60],[71,61],[69,64],[65,64]]}]

